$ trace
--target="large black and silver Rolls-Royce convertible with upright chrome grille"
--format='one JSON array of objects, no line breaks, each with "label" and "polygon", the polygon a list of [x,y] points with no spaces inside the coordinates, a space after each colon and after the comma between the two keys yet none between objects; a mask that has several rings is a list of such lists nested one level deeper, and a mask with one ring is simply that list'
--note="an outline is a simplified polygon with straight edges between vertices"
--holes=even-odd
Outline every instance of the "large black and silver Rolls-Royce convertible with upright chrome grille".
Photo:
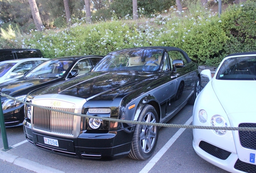
[{"label": "large black and silver Rolls-Royce convertible with upright chrome grille", "polygon": [[[175,47],[110,52],[91,72],[27,95],[27,102],[84,115],[166,123],[200,92],[198,65]],[[88,119],[25,106],[24,131],[35,146],[74,157],[151,157],[159,128]]]}]

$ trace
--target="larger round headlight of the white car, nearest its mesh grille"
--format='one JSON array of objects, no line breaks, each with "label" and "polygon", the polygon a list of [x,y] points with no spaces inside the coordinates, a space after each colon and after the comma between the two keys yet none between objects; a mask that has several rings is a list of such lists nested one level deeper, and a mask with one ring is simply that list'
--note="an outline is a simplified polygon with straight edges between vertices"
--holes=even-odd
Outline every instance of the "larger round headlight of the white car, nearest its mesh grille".
[{"label": "larger round headlight of the white car, nearest its mesh grille", "polygon": [[[211,118],[212,127],[227,127],[227,121],[221,115],[214,115]],[[217,135],[225,135],[227,130],[213,130]]]}]

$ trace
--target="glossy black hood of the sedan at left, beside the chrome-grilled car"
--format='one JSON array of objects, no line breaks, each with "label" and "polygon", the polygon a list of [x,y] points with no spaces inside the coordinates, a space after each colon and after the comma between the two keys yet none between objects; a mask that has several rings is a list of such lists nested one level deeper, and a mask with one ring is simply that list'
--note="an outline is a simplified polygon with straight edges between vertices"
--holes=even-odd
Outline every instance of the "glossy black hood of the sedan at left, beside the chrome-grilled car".
[{"label": "glossy black hood of the sedan at left, beside the chrome-grilled car", "polygon": [[27,95],[30,91],[52,84],[59,78],[19,78],[0,84],[0,92],[12,97]]}]

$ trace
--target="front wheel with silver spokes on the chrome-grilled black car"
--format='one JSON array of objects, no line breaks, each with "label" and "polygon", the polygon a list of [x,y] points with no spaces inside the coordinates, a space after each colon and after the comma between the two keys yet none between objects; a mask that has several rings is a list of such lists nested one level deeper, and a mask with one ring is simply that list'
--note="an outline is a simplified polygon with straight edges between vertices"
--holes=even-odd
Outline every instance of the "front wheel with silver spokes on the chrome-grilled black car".
[{"label": "front wheel with silver spokes on the chrome-grilled black car", "polygon": [[[142,109],[138,121],[158,123],[155,108],[151,105],[146,105]],[[136,125],[129,157],[137,160],[146,160],[151,157],[157,145],[158,132],[159,127],[157,126]]]}]

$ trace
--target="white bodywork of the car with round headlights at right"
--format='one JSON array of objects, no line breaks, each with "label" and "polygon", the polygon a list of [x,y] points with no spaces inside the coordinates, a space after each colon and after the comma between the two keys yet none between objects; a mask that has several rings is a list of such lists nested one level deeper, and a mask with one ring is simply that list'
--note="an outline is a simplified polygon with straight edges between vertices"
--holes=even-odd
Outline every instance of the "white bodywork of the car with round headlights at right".
[{"label": "white bodywork of the car with round headlights at right", "polygon": [[[218,72],[225,60],[237,57],[240,59],[241,57],[256,57],[256,52],[232,54],[223,59],[216,70],[215,76],[206,84],[196,98],[193,110],[193,125],[211,126],[212,117],[221,115],[225,119],[223,122],[225,123],[226,121],[227,123],[226,127],[239,127],[242,123],[256,127],[255,78],[254,80],[218,79],[218,75],[219,78],[223,77],[223,74],[218,74]],[[254,72],[256,72],[256,62],[254,64]],[[206,74],[207,72],[203,73]],[[206,122],[202,122],[204,119],[201,119],[201,121],[199,119],[198,113],[201,110],[207,113]],[[241,131],[227,131],[224,135],[219,135],[213,130],[193,129],[193,147],[195,152],[204,160],[226,171],[232,173],[255,173],[256,132],[247,131],[245,133],[250,134],[246,136],[246,142],[242,139],[245,136],[242,135],[244,133]],[[247,147],[244,143],[249,143],[253,147]]]}]

